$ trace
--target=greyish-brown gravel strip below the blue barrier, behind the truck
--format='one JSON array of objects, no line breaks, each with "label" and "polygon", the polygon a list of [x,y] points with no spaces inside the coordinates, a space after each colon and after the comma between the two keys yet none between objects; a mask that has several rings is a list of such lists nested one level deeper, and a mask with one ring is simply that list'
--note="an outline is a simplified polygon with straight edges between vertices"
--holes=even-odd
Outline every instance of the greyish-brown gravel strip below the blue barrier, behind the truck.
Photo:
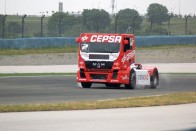
[{"label": "greyish-brown gravel strip below the blue barrier, behind the truck", "polygon": [[[139,48],[136,63],[196,63],[196,46]],[[72,64],[77,64],[77,53],[0,55],[0,66]]]}]

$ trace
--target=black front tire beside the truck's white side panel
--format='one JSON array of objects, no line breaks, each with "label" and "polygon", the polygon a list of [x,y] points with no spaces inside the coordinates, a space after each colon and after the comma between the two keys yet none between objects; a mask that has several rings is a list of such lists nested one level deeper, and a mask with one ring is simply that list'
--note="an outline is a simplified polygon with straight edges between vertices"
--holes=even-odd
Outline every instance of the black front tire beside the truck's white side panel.
[{"label": "black front tire beside the truck's white side panel", "polygon": [[127,89],[136,89],[136,73],[134,70],[131,70],[129,84],[125,84]]}]

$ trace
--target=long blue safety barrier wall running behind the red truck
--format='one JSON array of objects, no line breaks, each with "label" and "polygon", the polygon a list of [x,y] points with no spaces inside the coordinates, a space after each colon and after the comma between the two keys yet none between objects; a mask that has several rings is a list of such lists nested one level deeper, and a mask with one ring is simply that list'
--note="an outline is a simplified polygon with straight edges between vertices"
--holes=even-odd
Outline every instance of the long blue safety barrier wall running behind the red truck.
[{"label": "long blue safety barrier wall running behind the red truck", "polygon": [[[136,36],[137,46],[160,46],[175,44],[196,45],[196,35],[191,36]],[[36,37],[0,39],[0,49],[28,49],[77,46],[75,37]]]}]

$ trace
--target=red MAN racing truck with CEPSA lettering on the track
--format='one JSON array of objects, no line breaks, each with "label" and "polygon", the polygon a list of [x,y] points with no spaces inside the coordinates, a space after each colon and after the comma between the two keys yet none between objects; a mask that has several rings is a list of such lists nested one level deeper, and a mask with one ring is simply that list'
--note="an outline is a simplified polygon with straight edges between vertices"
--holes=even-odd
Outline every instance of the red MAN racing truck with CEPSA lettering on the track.
[{"label": "red MAN racing truck with CEPSA lettering on the track", "polygon": [[159,85],[156,67],[135,63],[133,34],[82,33],[76,42],[79,43],[77,81],[83,88],[90,88],[92,83],[107,87],[124,84],[128,89]]}]

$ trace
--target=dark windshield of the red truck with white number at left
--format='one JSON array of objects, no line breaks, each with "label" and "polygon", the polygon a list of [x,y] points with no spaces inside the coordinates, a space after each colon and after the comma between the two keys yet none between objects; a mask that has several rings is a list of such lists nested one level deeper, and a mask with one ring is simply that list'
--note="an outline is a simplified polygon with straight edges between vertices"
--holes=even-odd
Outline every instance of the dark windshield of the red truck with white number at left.
[{"label": "dark windshield of the red truck with white number at left", "polygon": [[120,51],[119,43],[82,43],[81,52],[86,53],[118,53]]}]

